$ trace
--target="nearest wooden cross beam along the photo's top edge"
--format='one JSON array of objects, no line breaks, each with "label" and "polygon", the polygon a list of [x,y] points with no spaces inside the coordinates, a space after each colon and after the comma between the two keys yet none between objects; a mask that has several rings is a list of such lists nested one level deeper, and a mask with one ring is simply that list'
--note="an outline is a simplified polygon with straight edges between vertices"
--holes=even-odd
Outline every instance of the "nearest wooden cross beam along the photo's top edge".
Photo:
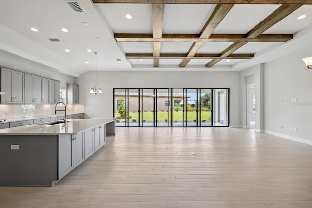
[{"label": "nearest wooden cross beam along the photo's top edge", "polygon": [[312,4],[312,0],[92,0],[93,3],[161,4]]}]

